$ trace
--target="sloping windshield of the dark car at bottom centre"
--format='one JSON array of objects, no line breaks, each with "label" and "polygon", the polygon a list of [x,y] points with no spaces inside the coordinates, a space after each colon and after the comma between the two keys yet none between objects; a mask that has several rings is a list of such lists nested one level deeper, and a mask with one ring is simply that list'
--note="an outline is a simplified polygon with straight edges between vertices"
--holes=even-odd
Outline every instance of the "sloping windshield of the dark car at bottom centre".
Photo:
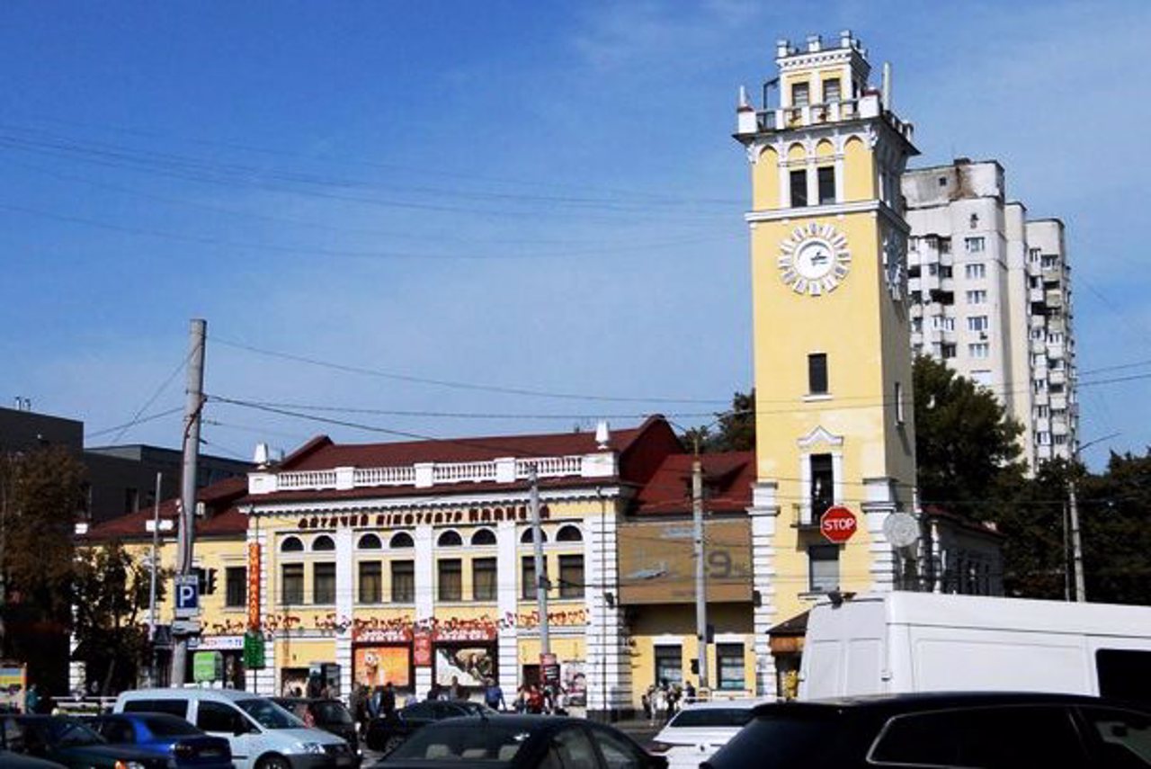
[{"label": "sloping windshield of the dark car at bottom centre", "polygon": [[441,721],[409,737],[384,763],[434,761],[458,762],[463,766],[509,764],[531,737],[532,732],[523,726],[493,721]]}]

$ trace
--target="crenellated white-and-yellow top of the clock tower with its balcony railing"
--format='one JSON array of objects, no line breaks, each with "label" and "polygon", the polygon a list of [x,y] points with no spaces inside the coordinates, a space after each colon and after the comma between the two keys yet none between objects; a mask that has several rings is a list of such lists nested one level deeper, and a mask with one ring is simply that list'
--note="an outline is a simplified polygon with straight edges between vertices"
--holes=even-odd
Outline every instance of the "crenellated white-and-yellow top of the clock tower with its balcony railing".
[{"label": "crenellated white-and-yellow top of the clock tower with its balcony railing", "polygon": [[[883,87],[868,84],[871,66],[867,50],[851,30],[839,33],[833,45],[810,35],[807,45],[788,40],[776,44],[779,77],[763,85],[763,100],[756,109],[740,89],[737,137],[770,134],[829,123],[882,117],[908,143],[914,128],[891,111],[891,68],[884,64]],[[778,90],[778,105],[771,106],[771,91]]]}]

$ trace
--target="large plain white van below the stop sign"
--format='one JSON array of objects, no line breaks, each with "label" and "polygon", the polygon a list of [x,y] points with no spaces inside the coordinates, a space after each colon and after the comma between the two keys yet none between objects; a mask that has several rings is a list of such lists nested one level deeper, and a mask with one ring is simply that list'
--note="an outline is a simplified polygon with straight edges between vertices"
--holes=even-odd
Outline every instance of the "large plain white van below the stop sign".
[{"label": "large plain white van below the stop sign", "polygon": [[1148,702],[1151,607],[894,592],[811,609],[799,699],[942,691]]}]

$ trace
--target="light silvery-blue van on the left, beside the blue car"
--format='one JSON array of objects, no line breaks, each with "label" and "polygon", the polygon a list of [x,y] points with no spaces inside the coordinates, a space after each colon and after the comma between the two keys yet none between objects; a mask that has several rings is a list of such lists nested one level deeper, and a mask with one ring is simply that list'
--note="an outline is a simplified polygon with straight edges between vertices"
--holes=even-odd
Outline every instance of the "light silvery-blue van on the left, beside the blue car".
[{"label": "light silvery-blue van on the left, beside the blue car", "polygon": [[251,692],[230,688],[138,688],[116,698],[115,713],[170,713],[231,743],[236,769],[353,769],[343,739]]}]

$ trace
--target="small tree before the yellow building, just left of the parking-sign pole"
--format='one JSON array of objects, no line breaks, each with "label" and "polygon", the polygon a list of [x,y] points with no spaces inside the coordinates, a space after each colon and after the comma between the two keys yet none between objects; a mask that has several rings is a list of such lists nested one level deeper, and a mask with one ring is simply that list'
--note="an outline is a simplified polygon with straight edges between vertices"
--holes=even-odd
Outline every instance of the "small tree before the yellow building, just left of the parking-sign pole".
[{"label": "small tree before the yellow building, just left of the parking-sign pole", "polygon": [[[166,577],[157,576],[158,591]],[[100,682],[101,693],[131,688],[140,667],[148,664],[150,587],[150,570],[120,542],[82,550],[76,559],[75,656],[85,663],[89,678]]]}]

